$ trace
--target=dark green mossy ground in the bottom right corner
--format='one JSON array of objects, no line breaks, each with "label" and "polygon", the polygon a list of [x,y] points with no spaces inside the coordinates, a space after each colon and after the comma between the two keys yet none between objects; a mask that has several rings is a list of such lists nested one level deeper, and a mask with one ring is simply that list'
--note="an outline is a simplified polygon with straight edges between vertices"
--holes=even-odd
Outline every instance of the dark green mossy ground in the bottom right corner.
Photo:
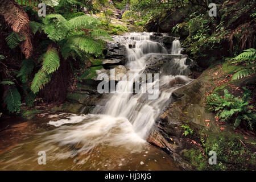
[{"label": "dark green mossy ground in the bottom right corner", "polygon": [[[183,152],[185,160],[197,170],[255,170],[256,154],[254,140],[245,140],[234,133],[201,133],[201,148],[191,148]],[[210,165],[209,151],[217,154],[217,164]]]}]

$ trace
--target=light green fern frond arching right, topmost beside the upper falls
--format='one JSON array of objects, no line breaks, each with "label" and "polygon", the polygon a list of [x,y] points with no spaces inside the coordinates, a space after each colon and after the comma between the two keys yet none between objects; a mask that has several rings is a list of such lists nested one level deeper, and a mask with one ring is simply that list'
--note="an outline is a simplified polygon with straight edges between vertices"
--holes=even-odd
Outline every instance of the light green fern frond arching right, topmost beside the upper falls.
[{"label": "light green fern frond arching right, topmost beside the upper falls", "polygon": [[94,29],[98,26],[98,24],[100,24],[98,19],[89,15],[78,16],[70,19],[68,22],[71,24],[73,29]]}]

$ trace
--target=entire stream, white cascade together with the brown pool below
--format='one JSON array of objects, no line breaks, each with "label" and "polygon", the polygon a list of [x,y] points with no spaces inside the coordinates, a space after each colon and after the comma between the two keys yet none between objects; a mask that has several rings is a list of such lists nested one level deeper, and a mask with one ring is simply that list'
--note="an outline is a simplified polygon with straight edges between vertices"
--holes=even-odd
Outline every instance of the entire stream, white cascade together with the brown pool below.
[{"label": "entire stream, white cascade together with the brown pool below", "polygon": [[[154,81],[141,81],[140,92],[134,94],[134,82],[143,77],[149,56],[175,56],[181,52],[178,39],[172,42],[172,49],[167,49],[150,40],[150,35],[143,32],[113,37],[126,47],[129,78],[118,81],[115,92],[105,94],[106,105],[97,105],[91,114],[42,113],[34,119],[15,121],[18,127],[11,129],[24,128],[16,143],[9,143],[15,137],[9,128],[1,131],[0,169],[181,169],[146,139],[172,92],[192,79],[185,76],[185,59],[175,58],[173,65],[160,69],[159,76],[152,76]],[[173,84],[177,80],[179,84]],[[38,164],[39,151],[45,152],[46,164]]]}]

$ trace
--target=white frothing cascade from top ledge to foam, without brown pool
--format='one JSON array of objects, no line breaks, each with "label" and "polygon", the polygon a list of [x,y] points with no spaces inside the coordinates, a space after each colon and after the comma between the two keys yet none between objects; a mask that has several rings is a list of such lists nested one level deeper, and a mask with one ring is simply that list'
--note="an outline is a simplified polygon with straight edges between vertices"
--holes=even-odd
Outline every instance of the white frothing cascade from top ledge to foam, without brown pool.
[{"label": "white frothing cascade from top ledge to foam, without brown pool", "polygon": [[[119,81],[118,93],[111,94],[104,107],[96,106],[93,114],[73,115],[67,119],[49,122],[59,128],[56,129],[55,134],[47,137],[47,143],[57,142],[60,145],[79,143],[83,146],[81,150],[85,151],[102,145],[123,146],[138,151],[143,143],[146,143],[156,117],[170,99],[172,92],[191,81],[183,75],[163,75],[150,84],[156,86],[159,82],[159,97],[156,100],[148,100],[146,93],[133,94],[134,79],[141,76],[146,68],[148,53],[168,54],[168,51],[161,43],[152,42],[150,33],[146,32],[115,36],[114,41],[126,46],[126,67],[129,68],[129,73],[133,73],[133,77],[128,81]],[[172,52],[180,53],[179,40],[175,40],[172,44]],[[181,74],[187,68],[184,59],[175,59],[175,61],[175,64],[179,64]],[[172,84],[177,80],[182,84]],[[80,124],[62,126],[67,123]]]}]

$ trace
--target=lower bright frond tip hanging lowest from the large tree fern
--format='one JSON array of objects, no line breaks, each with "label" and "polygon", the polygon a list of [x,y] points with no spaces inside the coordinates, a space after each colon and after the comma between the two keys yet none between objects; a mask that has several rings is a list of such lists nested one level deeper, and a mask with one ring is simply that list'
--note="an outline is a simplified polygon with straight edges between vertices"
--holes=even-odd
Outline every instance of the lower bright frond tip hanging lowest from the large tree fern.
[{"label": "lower bright frond tip hanging lowest from the large tree fern", "polygon": [[42,70],[39,70],[38,73],[35,74],[35,77],[31,84],[31,91],[33,93],[38,93],[40,89],[43,88],[51,80],[51,75],[47,75]]}]

